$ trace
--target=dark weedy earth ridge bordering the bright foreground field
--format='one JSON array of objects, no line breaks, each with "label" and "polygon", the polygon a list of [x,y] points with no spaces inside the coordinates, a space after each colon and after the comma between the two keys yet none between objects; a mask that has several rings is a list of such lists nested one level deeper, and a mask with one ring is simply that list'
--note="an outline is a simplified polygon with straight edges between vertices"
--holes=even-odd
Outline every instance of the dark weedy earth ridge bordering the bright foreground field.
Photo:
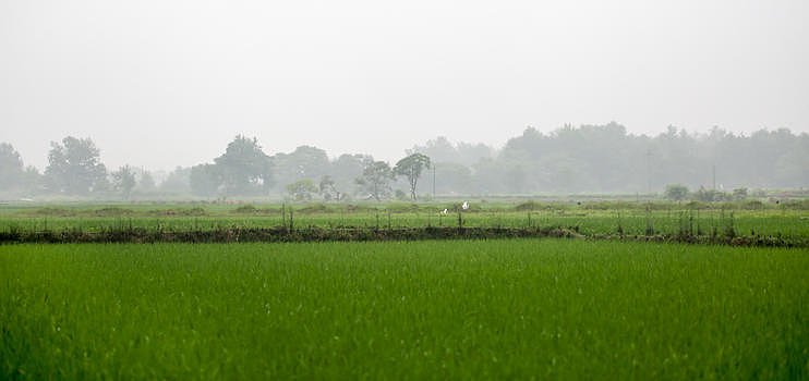
[{"label": "dark weedy earth ridge bordering the bright foreground field", "polygon": [[239,242],[385,242],[496,238],[584,238],[641,242],[674,242],[759,247],[808,248],[809,239],[770,235],[697,235],[688,233],[583,234],[577,226],[421,226],[421,228],[241,228],[217,230],[162,230],[110,228],[99,232],[81,229],[61,231],[8,230],[0,232],[0,244],[22,243],[239,243]]}]

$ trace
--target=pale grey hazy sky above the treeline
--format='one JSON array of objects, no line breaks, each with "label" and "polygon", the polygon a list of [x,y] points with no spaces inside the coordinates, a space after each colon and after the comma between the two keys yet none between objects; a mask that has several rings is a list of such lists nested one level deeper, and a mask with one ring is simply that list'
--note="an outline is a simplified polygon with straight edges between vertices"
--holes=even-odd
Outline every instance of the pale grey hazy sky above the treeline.
[{"label": "pale grey hazy sky above the treeline", "polygon": [[209,161],[236,134],[394,160],[617,121],[809,131],[809,1],[0,0],[0,142]]}]

